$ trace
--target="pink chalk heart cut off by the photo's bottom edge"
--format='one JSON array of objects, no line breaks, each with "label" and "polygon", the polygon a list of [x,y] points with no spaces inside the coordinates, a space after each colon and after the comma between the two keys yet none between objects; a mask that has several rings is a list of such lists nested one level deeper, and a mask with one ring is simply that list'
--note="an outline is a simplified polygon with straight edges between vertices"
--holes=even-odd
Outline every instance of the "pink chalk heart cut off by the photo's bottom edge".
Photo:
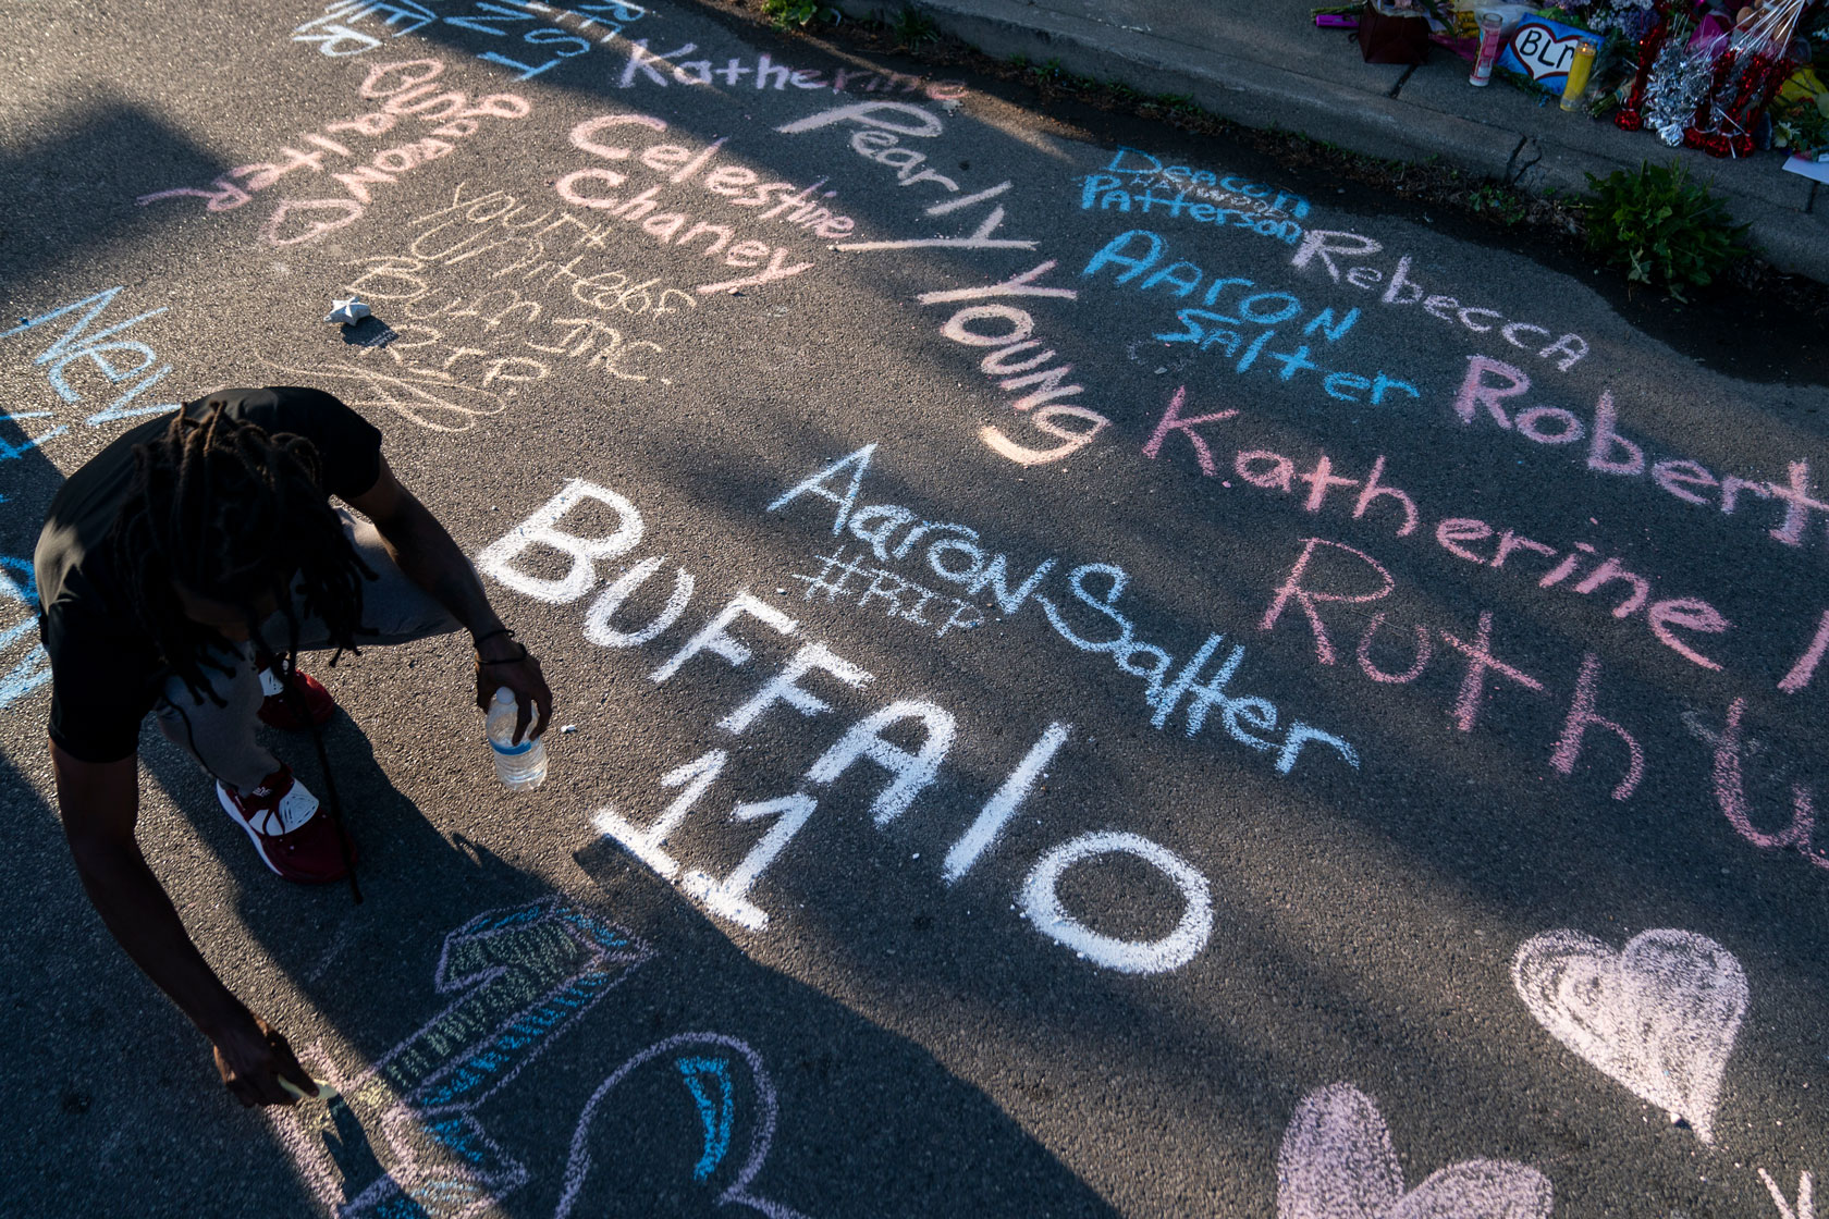
[{"label": "pink chalk heart cut off by the photo's bottom edge", "polygon": [[1461,1161],[1408,1193],[1377,1104],[1352,1084],[1302,1097],[1277,1155],[1277,1219],[1549,1219],[1549,1179]]}]

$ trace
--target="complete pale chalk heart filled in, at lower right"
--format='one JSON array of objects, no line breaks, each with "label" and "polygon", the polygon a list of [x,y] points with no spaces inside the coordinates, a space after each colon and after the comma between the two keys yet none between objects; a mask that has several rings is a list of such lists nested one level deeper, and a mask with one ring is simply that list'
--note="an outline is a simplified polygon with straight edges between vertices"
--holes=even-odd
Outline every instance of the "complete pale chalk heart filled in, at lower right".
[{"label": "complete pale chalk heart filled in, at lower right", "polygon": [[1511,980],[1536,1022],[1644,1100],[1714,1140],[1747,974],[1706,936],[1659,928],[1619,952],[1575,930],[1527,939]]}]

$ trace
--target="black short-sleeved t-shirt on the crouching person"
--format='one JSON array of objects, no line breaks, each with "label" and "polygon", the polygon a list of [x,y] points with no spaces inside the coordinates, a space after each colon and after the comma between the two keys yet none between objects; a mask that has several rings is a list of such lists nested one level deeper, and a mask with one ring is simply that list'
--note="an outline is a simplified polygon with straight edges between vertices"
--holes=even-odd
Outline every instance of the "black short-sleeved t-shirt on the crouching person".
[{"label": "black short-sleeved t-shirt on the crouching person", "polygon": [[[322,389],[219,389],[179,409],[229,415],[267,433],[311,440],[324,492],[355,499],[380,477],[380,433]],[[84,762],[117,762],[139,747],[139,722],[166,676],[165,660],[134,614],[110,534],[134,482],[134,446],[170,426],[161,415],[97,453],[59,488],[38,534],[33,568],[38,631],[51,656],[51,740]]]}]

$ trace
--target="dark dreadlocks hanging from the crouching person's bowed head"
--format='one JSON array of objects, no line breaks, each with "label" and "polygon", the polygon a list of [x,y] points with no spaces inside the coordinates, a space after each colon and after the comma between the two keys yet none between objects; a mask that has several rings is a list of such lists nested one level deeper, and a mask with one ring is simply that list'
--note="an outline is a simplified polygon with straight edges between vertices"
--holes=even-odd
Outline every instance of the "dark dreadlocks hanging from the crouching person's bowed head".
[{"label": "dark dreadlocks hanging from the crouching person's bowed head", "polygon": [[291,433],[269,435],[256,424],[207,404],[179,411],[155,440],[134,448],[134,484],[113,530],[115,556],[134,610],[172,673],[192,698],[221,698],[203,669],[227,665],[212,656],[216,632],[185,616],[172,585],[225,601],[247,618],[260,641],[260,601],[285,614],[285,676],[298,663],[300,610],[329,627],[337,654],[355,652],[362,625],[362,579],[375,572],[344,535],[342,519],[318,486],[316,448]]}]

